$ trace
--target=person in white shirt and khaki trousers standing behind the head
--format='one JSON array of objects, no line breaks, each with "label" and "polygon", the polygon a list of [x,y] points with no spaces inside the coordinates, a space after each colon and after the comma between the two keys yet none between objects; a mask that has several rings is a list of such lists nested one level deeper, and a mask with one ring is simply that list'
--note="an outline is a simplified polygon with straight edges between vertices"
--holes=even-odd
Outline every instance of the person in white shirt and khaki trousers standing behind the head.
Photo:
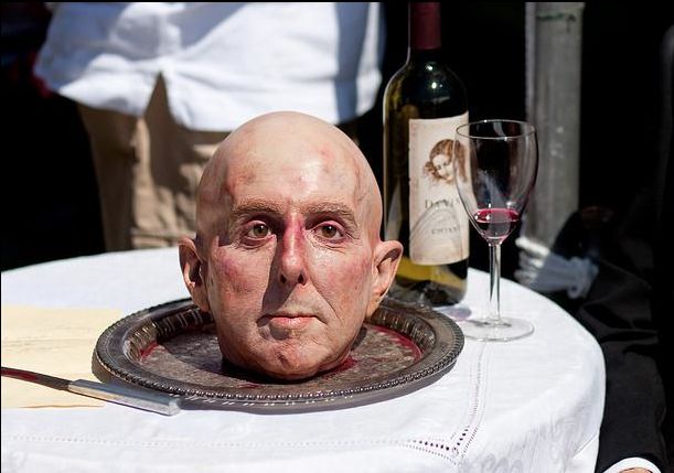
[{"label": "person in white shirt and khaki trousers standing behind the head", "polygon": [[357,140],[356,119],[382,82],[377,2],[50,8],[34,72],[78,104],[107,250],[171,246],[193,234],[199,179],[229,130],[295,110]]}]

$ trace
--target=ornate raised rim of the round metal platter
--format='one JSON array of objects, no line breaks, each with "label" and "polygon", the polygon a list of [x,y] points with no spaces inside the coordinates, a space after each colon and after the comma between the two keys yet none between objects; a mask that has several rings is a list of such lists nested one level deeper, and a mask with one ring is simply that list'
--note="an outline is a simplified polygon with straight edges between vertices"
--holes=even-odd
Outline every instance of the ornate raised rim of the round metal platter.
[{"label": "ornate raised rim of the round metal platter", "polygon": [[[349,388],[298,389],[287,395],[265,395],[260,389],[212,388],[160,376],[132,359],[138,345],[147,346],[167,333],[212,323],[191,299],[180,299],[129,314],[106,329],[98,337],[93,372],[103,381],[122,381],[181,399],[183,408],[231,409],[255,412],[290,412],[353,407],[398,397],[427,386],[448,373],[463,348],[461,329],[447,315],[429,308],[385,298],[368,321],[411,338],[421,358],[386,376],[363,379]],[[162,325],[163,324],[163,325]],[[424,336],[431,335],[431,336]],[[418,340],[421,341],[421,345]],[[168,383],[180,383],[170,386]]]}]

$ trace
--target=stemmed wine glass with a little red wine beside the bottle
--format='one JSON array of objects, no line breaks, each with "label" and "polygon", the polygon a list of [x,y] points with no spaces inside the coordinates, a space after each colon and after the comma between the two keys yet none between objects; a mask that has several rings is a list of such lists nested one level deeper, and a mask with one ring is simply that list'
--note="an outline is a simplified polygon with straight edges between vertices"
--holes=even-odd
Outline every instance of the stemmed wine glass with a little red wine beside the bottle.
[{"label": "stemmed wine glass with a little red wine beside the bottle", "polygon": [[490,252],[489,313],[462,321],[463,334],[503,342],[526,336],[534,331],[529,322],[501,316],[501,244],[520,222],[536,181],[536,129],[516,120],[462,125],[457,128],[453,155],[459,197]]}]

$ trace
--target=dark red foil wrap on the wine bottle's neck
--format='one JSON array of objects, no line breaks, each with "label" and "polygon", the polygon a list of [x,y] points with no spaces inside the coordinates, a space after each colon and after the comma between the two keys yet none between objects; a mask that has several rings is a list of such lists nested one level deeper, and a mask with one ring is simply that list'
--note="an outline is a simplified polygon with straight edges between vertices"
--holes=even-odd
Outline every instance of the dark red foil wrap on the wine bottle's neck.
[{"label": "dark red foil wrap on the wine bottle's neck", "polygon": [[441,46],[440,2],[409,2],[407,60],[428,57]]}]

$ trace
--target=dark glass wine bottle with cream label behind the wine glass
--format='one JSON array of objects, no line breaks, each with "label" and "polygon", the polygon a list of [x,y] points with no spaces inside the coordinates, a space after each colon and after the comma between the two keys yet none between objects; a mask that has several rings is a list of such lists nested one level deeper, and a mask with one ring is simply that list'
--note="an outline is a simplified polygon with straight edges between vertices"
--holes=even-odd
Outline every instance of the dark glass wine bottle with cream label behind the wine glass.
[{"label": "dark glass wine bottle with cream label behind the wine glass", "polygon": [[437,307],[466,293],[469,223],[451,163],[466,122],[466,90],[441,52],[440,3],[409,2],[407,61],[384,92],[384,233],[405,247],[397,299]]}]

